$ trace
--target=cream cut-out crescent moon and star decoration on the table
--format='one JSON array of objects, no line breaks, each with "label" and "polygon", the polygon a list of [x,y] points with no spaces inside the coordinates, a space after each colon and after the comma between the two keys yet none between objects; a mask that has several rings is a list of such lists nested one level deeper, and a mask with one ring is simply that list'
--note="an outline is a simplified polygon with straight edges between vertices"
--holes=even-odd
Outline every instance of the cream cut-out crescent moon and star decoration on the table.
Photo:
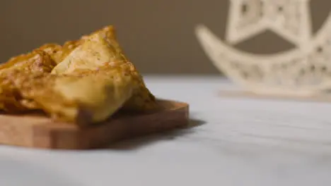
[{"label": "cream cut-out crescent moon and star decoration on the table", "polygon": [[[264,6],[260,10],[265,12],[257,16],[241,16],[238,7],[254,5],[252,13],[257,12],[256,3],[263,2]],[[296,3],[296,4],[294,4]],[[300,3],[300,4],[299,4]],[[250,54],[245,51],[229,46],[221,41],[206,26],[197,25],[195,33],[198,41],[202,45],[204,52],[209,56],[214,66],[221,70],[233,82],[241,85],[246,90],[256,94],[286,94],[294,96],[312,96],[323,94],[331,90],[331,14],[329,14],[320,30],[314,37],[310,37],[310,13],[308,13],[309,0],[293,1],[274,1],[274,0],[232,0],[231,11],[228,20],[228,30],[226,37],[228,42],[236,43],[256,35],[261,30],[269,29],[284,35],[284,38],[291,39],[298,47],[289,51],[277,54]],[[279,5],[280,4],[280,5]],[[291,7],[286,9],[286,7]],[[286,18],[284,14],[274,13],[273,16],[266,12],[272,12],[271,7],[278,10],[293,12],[298,10],[297,18]],[[267,9],[269,8],[269,9]],[[306,11],[306,12],[305,12]],[[303,13],[303,14],[300,14]],[[239,15],[239,16],[238,16]],[[266,16],[267,15],[267,16]],[[259,17],[260,16],[260,17]],[[255,20],[255,25],[243,30],[240,34],[239,26],[236,23],[247,23],[245,18]],[[253,19],[254,18],[254,19]],[[259,18],[259,19],[257,19]],[[280,19],[282,18],[282,19]],[[290,23],[303,23],[296,25],[292,31],[287,32],[284,21],[291,20]],[[240,22],[241,21],[241,22]],[[252,22],[252,21],[251,21]],[[245,25],[245,24],[242,24]],[[246,24],[247,25],[247,24]],[[286,25],[286,24],[285,24]],[[236,29],[233,29],[235,27]],[[298,30],[306,31],[298,32]],[[238,31],[239,30],[239,31]],[[247,35],[245,35],[245,33]],[[287,35],[287,37],[285,37]],[[301,37],[295,37],[295,36]]]}]

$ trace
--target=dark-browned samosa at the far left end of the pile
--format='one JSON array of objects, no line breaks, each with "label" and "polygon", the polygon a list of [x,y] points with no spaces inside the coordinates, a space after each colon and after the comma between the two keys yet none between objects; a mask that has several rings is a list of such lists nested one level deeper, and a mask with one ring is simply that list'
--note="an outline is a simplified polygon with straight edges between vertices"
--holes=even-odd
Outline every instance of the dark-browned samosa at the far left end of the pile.
[{"label": "dark-browned samosa at the far left end of the pile", "polygon": [[45,51],[35,50],[11,58],[0,66],[0,110],[21,112],[39,109],[35,101],[20,94],[20,78],[26,74],[49,74],[56,64]]}]

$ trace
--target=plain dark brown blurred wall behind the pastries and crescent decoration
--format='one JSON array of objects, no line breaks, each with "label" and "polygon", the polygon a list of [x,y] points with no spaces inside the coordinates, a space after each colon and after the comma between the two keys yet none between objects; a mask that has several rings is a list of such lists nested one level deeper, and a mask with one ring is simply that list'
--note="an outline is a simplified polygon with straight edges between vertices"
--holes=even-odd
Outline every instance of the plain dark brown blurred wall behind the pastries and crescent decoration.
[{"label": "plain dark brown blurred wall behind the pastries and crescent decoration", "polygon": [[[310,4],[316,31],[329,13],[331,1],[311,0]],[[204,23],[223,38],[228,5],[228,0],[1,1],[0,61],[47,42],[78,39],[115,25],[127,56],[141,73],[219,73],[199,46],[194,26]],[[272,54],[294,46],[265,32],[236,47]]]}]

